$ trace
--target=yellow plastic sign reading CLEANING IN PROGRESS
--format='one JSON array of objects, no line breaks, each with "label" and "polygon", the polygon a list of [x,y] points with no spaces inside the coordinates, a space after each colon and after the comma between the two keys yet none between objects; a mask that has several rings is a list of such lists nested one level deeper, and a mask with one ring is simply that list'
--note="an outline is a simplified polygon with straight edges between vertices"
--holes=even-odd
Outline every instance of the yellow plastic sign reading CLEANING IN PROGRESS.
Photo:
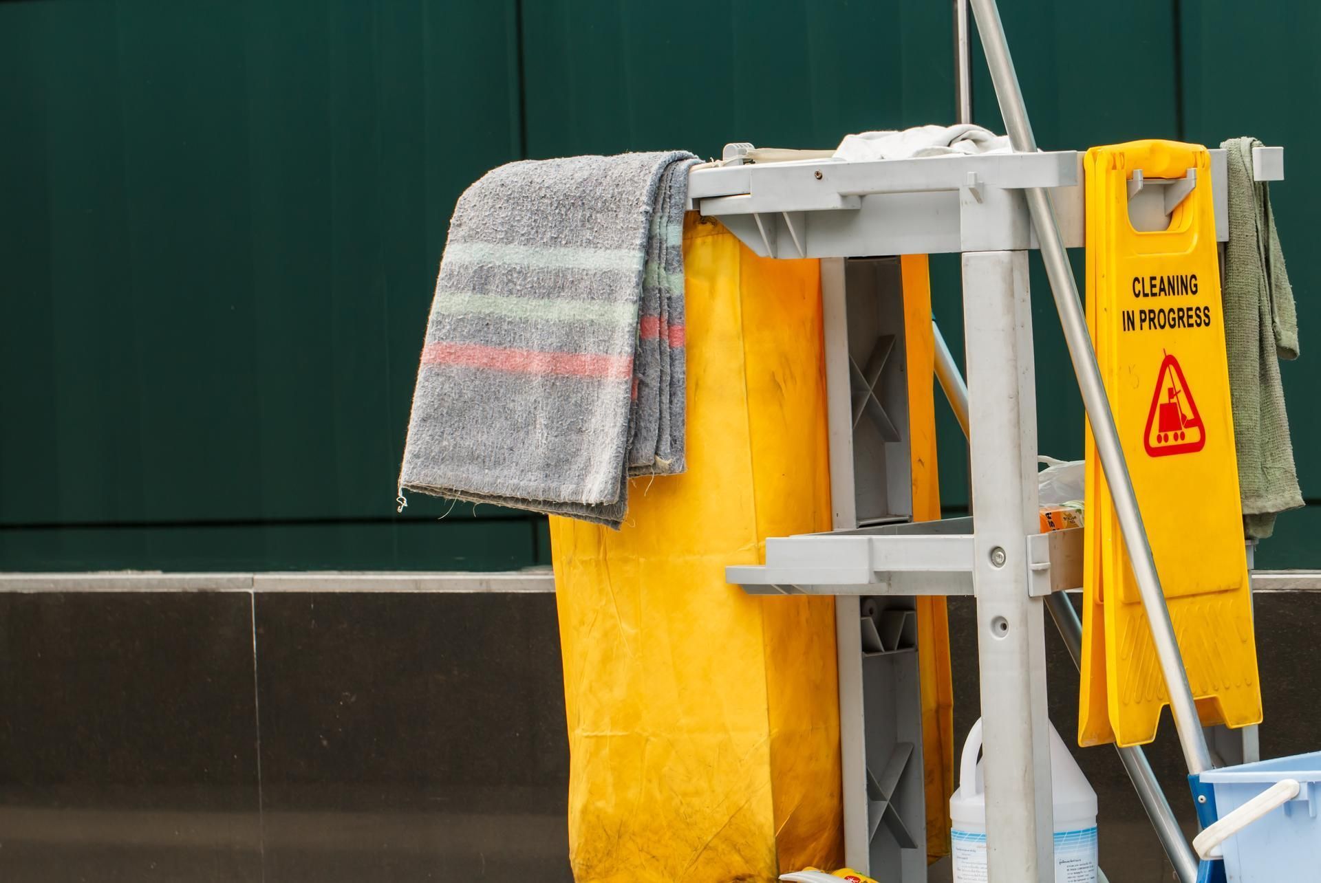
[{"label": "yellow plastic sign reading CLEANING IN PROGRESS", "polygon": [[[1189,684],[1203,723],[1258,723],[1210,154],[1133,141],[1085,169],[1087,322]],[[1168,230],[1133,228],[1135,170],[1153,189],[1196,178]],[[1090,426],[1086,457],[1078,740],[1143,744],[1169,696]]]}]

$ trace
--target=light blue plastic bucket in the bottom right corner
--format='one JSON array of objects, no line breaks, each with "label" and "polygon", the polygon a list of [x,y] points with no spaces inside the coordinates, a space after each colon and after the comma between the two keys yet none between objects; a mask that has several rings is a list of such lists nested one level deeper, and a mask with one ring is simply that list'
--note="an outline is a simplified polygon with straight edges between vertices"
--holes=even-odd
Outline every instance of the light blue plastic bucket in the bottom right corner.
[{"label": "light blue plastic bucket in the bottom right corner", "polygon": [[1299,796],[1222,843],[1229,883],[1321,880],[1321,751],[1201,775],[1215,789],[1221,818],[1284,779],[1299,783]]}]

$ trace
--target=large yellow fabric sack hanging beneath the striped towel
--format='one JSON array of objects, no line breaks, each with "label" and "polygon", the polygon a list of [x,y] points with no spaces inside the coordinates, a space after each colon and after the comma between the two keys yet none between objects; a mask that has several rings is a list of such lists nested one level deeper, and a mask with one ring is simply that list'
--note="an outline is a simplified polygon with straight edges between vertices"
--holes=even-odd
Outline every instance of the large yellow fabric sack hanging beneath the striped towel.
[{"label": "large yellow fabric sack hanging beneath the striped towel", "polygon": [[725,582],[831,527],[820,269],[684,224],[688,471],[551,519],[579,883],[843,863],[834,599]]}]

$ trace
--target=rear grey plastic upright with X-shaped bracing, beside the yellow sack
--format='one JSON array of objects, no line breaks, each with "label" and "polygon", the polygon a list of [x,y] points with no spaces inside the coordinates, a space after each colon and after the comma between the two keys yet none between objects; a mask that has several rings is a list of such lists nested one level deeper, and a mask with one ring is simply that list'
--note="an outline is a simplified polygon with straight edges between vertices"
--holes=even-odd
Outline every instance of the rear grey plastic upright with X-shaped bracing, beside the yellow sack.
[{"label": "rear grey plastic upright with X-shaped bracing, beside the yellow sack", "polygon": [[[864,542],[904,531],[886,523],[913,512],[902,292],[896,257],[822,263],[832,524]],[[926,879],[914,607],[910,597],[835,599],[845,863],[896,883]]]}]

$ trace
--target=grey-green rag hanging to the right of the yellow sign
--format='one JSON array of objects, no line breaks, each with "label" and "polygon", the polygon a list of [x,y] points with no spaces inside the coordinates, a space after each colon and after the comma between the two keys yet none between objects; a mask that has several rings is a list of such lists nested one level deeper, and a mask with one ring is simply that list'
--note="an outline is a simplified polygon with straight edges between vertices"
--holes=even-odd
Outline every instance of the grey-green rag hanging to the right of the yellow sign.
[{"label": "grey-green rag hanging to the right of the yellow sign", "polygon": [[1299,358],[1299,318],[1267,185],[1252,178],[1251,137],[1221,144],[1229,161],[1230,242],[1225,248],[1225,343],[1243,528],[1275,531],[1275,516],[1303,506],[1284,410],[1280,359]]}]

